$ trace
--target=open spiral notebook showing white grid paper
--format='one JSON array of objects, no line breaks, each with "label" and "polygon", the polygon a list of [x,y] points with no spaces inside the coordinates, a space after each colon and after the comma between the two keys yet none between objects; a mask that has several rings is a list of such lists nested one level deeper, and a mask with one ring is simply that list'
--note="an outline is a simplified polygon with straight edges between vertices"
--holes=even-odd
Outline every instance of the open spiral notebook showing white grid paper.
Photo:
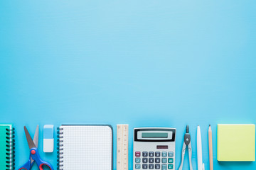
[{"label": "open spiral notebook showing white grid paper", "polygon": [[112,170],[110,125],[61,125],[58,137],[58,169]]}]

